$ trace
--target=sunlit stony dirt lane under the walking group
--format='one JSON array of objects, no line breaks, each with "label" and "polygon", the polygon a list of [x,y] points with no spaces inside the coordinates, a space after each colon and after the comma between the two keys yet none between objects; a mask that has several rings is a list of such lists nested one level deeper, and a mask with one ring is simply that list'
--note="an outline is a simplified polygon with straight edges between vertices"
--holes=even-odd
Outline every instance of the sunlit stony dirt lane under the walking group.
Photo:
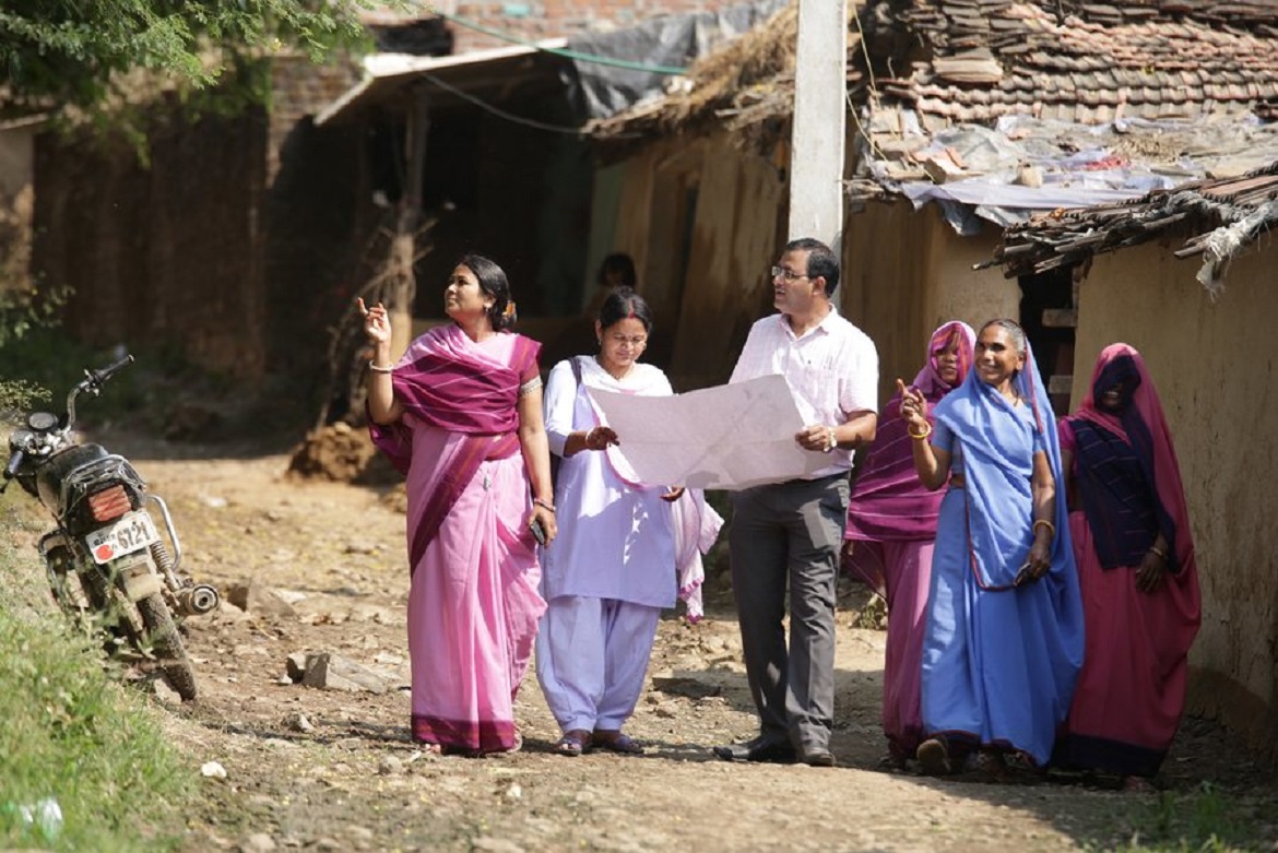
[{"label": "sunlit stony dirt lane under the walking group", "polygon": [[[245,605],[188,621],[202,695],[165,704],[174,741],[207,774],[187,850],[1112,849],[1166,830],[1182,803],[1206,802],[1204,790],[1251,821],[1241,847],[1278,838],[1273,776],[1205,721],[1186,721],[1159,780],[1171,794],[886,769],[884,635],[854,627],[864,598],[851,587],[838,617],[840,766],[717,761],[709,747],[753,736],[754,714],[731,593],[714,572],[708,618],[661,623],[629,725],[645,755],[555,755],[532,677],[516,707],[521,752],[426,755],[408,739],[408,571],[394,488],[291,476],[286,453],[112,441],[169,501],[185,570]],[[296,669],[318,654],[336,664],[330,688],[296,683],[290,656]],[[348,664],[359,683],[335,677]]]}]

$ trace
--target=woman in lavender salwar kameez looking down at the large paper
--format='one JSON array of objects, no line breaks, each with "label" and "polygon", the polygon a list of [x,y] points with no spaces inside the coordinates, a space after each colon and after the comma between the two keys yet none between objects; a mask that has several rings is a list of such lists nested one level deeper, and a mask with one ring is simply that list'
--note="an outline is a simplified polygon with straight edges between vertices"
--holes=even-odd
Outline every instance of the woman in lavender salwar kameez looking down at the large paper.
[{"label": "woman in lavender salwar kameez looking down at the large paper", "polygon": [[560,539],[543,555],[537,674],[566,756],[642,751],[621,729],[643,691],[657,621],[676,594],[690,618],[700,615],[700,552],[722,524],[699,494],[636,483],[590,401],[589,389],[672,393],[665,373],[638,361],[651,331],[644,300],[617,287],[596,322],[599,354],[561,361],[547,381],[546,432],[562,457]]}]

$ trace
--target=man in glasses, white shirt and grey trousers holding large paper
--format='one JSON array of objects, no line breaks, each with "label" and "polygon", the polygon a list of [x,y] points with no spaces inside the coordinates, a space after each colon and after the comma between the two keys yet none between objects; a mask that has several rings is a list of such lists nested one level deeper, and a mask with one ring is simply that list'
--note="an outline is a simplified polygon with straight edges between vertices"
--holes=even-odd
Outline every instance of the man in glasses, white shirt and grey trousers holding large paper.
[{"label": "man in glasses, white shirt and grey trousers holding large paper", "polygon": [[787,244],[772,268],[773,305],[781,313],[750,328],[732,370],[731,382],[786,377],[808,424],[795,441],[826,453],[829,465],[805,479],[732,493],[732,589],[759,737],[714,747],[726,761],[835,764],[838,549],[852,452],[874,441],[878,423],[878,352],[835,310],[837,286],[838,258],[829,246],[810,238]]}]

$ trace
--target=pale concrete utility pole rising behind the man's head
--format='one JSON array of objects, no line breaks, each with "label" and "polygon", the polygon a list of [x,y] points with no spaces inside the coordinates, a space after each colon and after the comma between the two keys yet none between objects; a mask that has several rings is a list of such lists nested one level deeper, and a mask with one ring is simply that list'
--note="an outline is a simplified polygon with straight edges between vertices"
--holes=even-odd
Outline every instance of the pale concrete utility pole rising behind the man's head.
[{"label": "pale concrete utility pole rising behind the man's head", "polygon": [[790,142],[790,239],[817,238],[837,254],[843,236],[847,0],[799,0]]}]

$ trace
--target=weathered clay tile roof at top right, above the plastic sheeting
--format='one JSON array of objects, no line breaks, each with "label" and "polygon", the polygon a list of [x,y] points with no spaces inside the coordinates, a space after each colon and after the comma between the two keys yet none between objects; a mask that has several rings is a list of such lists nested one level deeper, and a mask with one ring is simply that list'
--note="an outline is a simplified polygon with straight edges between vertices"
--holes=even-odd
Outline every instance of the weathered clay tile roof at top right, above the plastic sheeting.
[{"label": "weathered clay tile roof at top right, above the plastic sheeting", "polygon": [[[930,49],[941,77],[952,66],[958,34],[978,29],[969,3],[889,0],[888,6],[896,24]],[[994,61],[1002,75],[988,82],[951,75],[957,86],[947,96],[974,121],[996,117],[997,101],[982,97],[983,88],[1020,92],[1025,82],[1049,103],[1082,107],[1044,115],[1084,120],[1104,120],[1093,107],[1123,101],[1141,105],[1148,117],[1241,114],[1272,97],[1278,82],[1278,4],[1264,0],[990,0],[980,10],[989,15],[985,31],[1006,40],[987,42],[992,59],[983,69]]]}]

